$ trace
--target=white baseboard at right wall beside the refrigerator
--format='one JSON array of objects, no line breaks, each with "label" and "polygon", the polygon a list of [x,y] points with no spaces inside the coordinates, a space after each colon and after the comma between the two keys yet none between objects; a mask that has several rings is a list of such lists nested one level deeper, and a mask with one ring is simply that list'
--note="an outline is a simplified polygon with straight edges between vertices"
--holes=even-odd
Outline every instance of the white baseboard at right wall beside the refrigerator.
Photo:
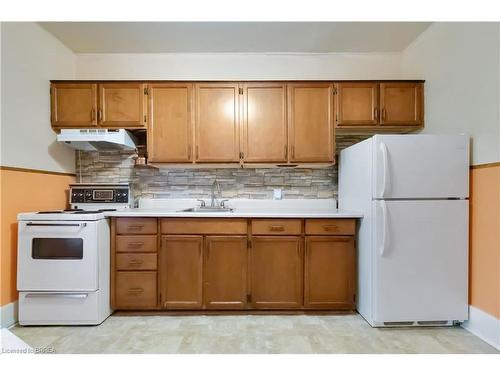
[{"label": "white baseboard at right wall beside the refrigerator", "polygon": [[495,349],[500,350],[500,319],[469,306],[469,320],[462,327]]}]

